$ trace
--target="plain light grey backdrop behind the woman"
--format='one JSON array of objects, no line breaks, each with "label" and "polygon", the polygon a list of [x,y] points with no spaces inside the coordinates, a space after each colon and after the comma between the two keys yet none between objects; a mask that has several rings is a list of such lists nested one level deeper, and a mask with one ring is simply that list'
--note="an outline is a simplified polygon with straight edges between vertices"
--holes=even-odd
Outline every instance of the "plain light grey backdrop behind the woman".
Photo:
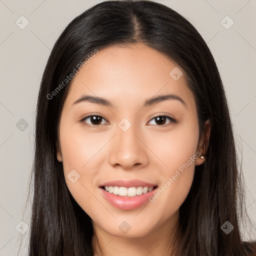
[{"label": "plain light grey backdrop behind the woman", "polygon": [[[33,157],[34,111],[47,58],[64,27],[97,2],[100,1],[0,0],[2,256],[17,255],[21,237],[26,241],[29,233],[29,209],[26,216],[23,212]],[[214,56],[229,102],[239,159],[242,158],[246,207],[256,225],[256,1],[158,2],[185,16]],[[28,25],[22,27],[26,22]],[[246,239],[247,232],[243,235]],[[256,239],[255,234],[251,237]],[[26,242],[23,246],[24,252],[19,255],[26,255]]]}]

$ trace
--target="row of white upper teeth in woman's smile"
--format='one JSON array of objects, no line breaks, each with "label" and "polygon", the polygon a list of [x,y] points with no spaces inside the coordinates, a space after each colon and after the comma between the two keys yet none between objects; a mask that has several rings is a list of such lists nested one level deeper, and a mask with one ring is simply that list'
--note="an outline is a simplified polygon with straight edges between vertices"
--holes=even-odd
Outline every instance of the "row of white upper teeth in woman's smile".
[{"label": "row of white upper teeth in woman's smile", "polygon": [[124,186],[104,186],[105,190],[109,193],[121,195],[121,196],[135,196],[139,194],[147,193],[151,190],[153,190],[153,186],[147,187],[147,186],[132,186],[132,187],[124,187]]}]

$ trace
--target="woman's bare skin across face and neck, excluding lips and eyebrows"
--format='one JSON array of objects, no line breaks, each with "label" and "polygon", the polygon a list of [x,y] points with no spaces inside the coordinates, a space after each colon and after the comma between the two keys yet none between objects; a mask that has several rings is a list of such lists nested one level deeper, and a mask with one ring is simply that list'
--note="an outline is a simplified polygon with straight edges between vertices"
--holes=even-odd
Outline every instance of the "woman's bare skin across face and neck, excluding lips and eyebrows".
[{"label": "woman's bare skin across face and neck, excluding lips and eyebrows", "polygon": [[[136,209],[114,207],[98,186],[121,178],[160,188],[196,151],[204,154],[194,96],[180,67],[183,75],[178,80],[169,75],[174,67],[178,65],[167,56],[143,44],[113,45],[99,50],[71,81],[60,116],[57,159],[72,196],[92,219],[92,246],[98,255],[162,256],[171,247],[179,207],[195,165],[204,159],[197,157],[154,202]],[[104,97],[113,107],[73,104],[84,94]],[[185,105],[171,99],[142,107],[146,99],[164,94],[179,96]],[[103,116],[97,127],[92,127],[91,118],[79,122],[89,114]],[[163,114],[177,122],[166,118],[157,124],[153,117]],[[131,123],[125,132],[118,126],[123,118]],[[72,169],[80,174],[74,183],[67,178]],[[131,227],[126,233],[118,228],[123,221]]]}]

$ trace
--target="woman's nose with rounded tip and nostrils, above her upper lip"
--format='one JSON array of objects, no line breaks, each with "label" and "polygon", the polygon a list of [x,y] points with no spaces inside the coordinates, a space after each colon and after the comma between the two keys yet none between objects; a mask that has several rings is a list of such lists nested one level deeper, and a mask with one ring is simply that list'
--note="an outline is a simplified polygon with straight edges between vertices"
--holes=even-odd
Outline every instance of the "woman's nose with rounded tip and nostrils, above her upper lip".
[{"label": "woman's nose with rounded tip and nostrils, above her upper lip", "polygon": [[126,131],[117,126],[116,135],[112,139],[109,163],[123,169],[141,168],[148,164],[146,138],[142,131],[131,125]]}]

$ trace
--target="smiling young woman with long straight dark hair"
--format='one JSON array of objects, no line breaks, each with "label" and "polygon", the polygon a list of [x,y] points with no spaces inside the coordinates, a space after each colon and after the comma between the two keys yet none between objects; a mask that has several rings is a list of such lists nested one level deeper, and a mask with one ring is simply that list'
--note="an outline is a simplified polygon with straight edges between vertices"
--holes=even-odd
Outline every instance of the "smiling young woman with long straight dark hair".
[{"label": "smiling young woman with long straight dark hair", "polygon": [[162,4],[104,1],[61,33],[33,178],[29,255],[255,254],[216,64]]}]

